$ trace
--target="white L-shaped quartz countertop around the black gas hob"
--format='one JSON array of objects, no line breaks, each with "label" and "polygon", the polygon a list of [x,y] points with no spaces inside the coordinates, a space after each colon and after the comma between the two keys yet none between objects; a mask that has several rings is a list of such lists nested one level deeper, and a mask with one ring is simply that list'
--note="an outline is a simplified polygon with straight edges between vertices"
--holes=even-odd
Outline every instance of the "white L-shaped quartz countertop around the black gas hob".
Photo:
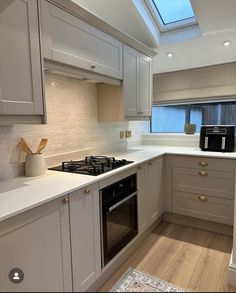
[{"label": "white L-shaped quartz countertop around the black gas hob", "polygon": [[236,159],[236,152],[203,152],[199,148],[191,147],[141,145],[123,152],[111,151],[106,155],[134,161],[134,163],[99,176],[49,170],[46,175],[40,177],[22,176],[0,182],[0,221],[165,154]]}]

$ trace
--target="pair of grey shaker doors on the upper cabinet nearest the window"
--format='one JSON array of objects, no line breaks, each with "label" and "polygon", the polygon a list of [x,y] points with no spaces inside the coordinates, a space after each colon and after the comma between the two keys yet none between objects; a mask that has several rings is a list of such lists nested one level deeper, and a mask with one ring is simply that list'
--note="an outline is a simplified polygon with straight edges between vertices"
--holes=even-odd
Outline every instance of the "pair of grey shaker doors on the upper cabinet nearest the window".
[{"label": "pair of grey shaker doors on the upper cabinet nearest the window", "polygon": [[152,59],[124,45],[125,116],[151,116]]}]

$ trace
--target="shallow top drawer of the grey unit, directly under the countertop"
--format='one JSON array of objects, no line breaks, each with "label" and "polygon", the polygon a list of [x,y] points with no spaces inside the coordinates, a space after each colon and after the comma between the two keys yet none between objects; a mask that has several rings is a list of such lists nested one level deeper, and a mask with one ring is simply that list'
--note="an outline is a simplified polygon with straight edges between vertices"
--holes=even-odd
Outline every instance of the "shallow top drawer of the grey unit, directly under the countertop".
[{"label": "shallow top drawer of the grey unit, directly under the countertop", "polygon": [[235,161],[208,157],[173,156],[172,166],[235,172]]}]

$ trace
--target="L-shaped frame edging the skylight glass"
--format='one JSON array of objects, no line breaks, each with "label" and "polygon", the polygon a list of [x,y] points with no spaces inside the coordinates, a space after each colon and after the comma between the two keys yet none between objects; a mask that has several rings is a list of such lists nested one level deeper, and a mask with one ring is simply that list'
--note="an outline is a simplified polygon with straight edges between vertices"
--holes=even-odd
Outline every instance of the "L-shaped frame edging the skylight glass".
[{"label": "L-shaped frame edging the skylight glass", "polygon": [[175,29],[186,28],[192,25],[197,25],[196,17],[190,17],[183,20],[164,24],[164,21],[162,20],[162,17],[158,11],[158,8],[154,4],[153,0],[144,0],[144,1],[161,32],[166,32],[166,31],[171,31]]}]

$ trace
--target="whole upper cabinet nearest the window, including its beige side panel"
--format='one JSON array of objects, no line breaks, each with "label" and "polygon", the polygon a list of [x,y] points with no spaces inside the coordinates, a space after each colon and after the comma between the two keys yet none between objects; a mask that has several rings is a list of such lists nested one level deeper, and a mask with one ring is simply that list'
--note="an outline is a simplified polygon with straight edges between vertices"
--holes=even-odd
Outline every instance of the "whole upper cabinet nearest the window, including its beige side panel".
[{"label": "whole upper cabinet nearest the window, including its beige side panel", "polygon": [[123,88],[107,84],[97,86],[100,122],[151,116],[152,58],[127,45],[123,47]]}]

